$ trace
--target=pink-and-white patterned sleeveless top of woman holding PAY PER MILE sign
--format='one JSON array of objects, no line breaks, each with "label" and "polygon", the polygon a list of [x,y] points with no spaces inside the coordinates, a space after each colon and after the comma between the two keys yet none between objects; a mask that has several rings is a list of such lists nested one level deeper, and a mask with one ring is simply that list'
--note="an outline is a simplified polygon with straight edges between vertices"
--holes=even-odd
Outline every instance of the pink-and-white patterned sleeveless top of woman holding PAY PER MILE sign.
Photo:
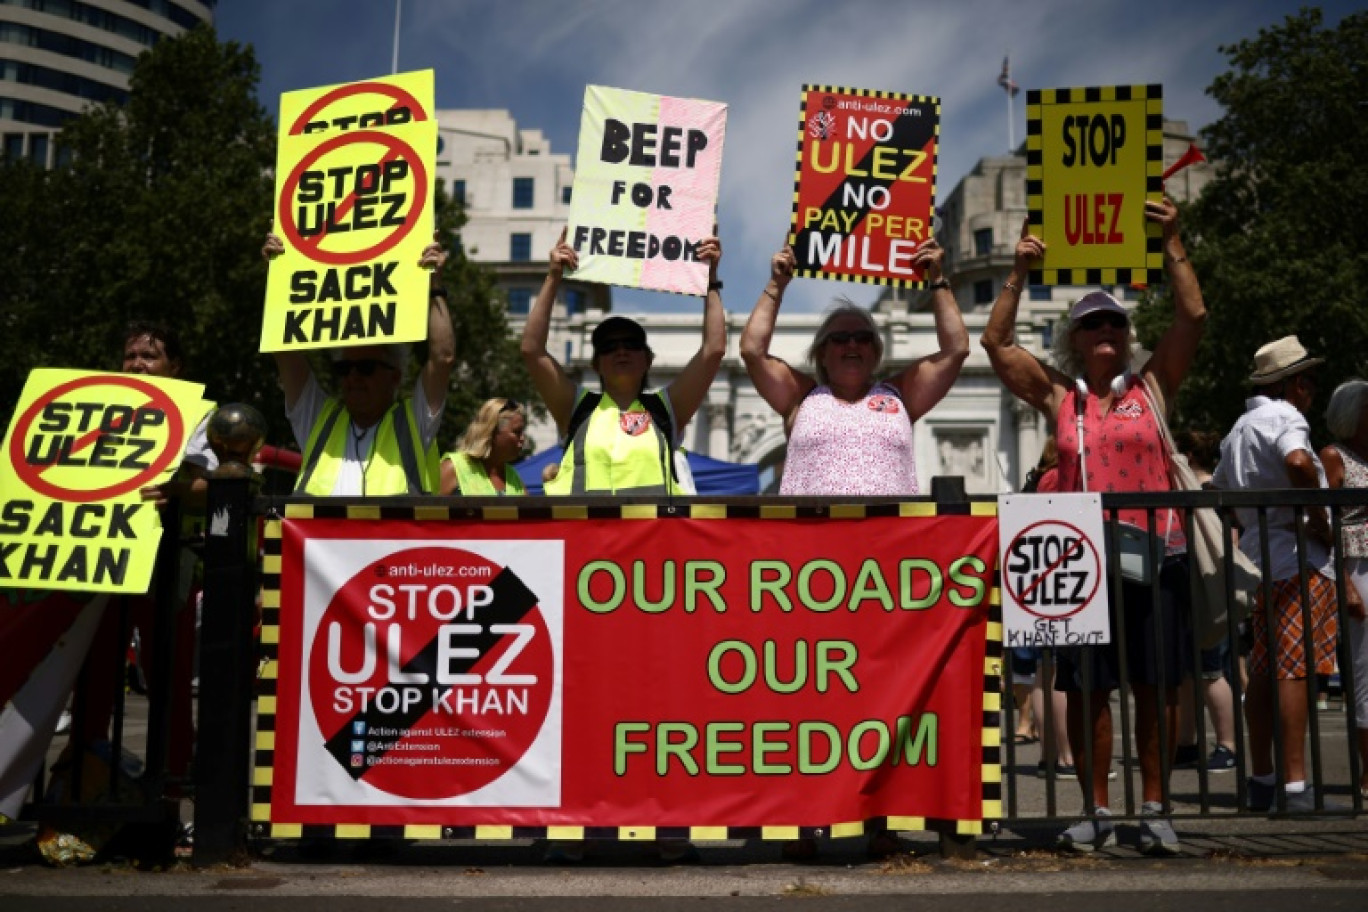
[{"label": "pink-and-white patterned sleeveless top of woman holding PAY PER MILE sign", "polygon": [[845,402],[817,387],[798,406],[780,494],[917,494],[912,423],[897,390],[876,383]]}]

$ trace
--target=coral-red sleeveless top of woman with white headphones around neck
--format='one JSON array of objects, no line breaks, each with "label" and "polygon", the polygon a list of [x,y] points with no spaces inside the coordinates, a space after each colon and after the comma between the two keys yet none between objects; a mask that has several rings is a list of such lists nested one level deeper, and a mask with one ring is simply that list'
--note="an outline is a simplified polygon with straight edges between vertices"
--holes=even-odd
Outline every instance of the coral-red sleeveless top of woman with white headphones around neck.
[{"label": "coral-red sleeveless top of woman with white headphones around neck", "polygon": [[[1070,390],[1059,406],[1055,442],[1059,447],[1060,491],[1172,491],[1168,453],[1145,395],[1144,380],[1131,376],[1122,397],[1103,414],[1097,397],[1083,401],[1083,455],[1088,484],[1078,477],[1078,390]],[[1118,510],[1122,522],[1148,528],[1146,510]],[[1182,515],[1156,510],[1157,531],[1168,532],[1168,551],[1186,548]]]}]

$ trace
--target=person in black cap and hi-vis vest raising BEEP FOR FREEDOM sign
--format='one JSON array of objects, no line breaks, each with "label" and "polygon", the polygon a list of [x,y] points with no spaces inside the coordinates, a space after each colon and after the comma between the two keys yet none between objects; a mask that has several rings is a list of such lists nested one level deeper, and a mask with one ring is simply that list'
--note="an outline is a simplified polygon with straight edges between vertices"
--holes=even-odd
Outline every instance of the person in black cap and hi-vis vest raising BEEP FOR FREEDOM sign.
[{"label": "person in black cap and hi-vis vest raising BEEP FOR FREEDOM sign", "polygon": [[579,267],[579,254],[561,231],[523,328],[523,361],[565,446],[561,469],[546,484],[546,494],[680,492],[672,469],[679,432],[703,403],[726,350],[722,283],[717,280],[722,246],[715,237],[699,242],[698,258],[709,264],[709,284],[703,340],[689,362],[665,390],[648,390],[655,353],[646,342],[646,330],[613,316],[591,336],[590,364],[602,387],[602,392],[591,392],[577,387],[546,349],[555,293],[565,271]]}]

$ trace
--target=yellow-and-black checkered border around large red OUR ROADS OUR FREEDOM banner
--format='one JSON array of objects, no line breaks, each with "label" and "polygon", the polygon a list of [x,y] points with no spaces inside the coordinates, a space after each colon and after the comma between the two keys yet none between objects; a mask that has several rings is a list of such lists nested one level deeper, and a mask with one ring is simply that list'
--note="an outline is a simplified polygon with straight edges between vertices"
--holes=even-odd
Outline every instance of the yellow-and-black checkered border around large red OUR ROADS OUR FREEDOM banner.
[{"label": "yellow-and-black checkered border around large red OUR ROADS OUR FREEDOM banner", "polygon": [[[937,515],[977,515],[996,517],[996,502],[970,503],[932,503],[932,502],[902,502],[902,503],[833,503],[826,506],[736,506],[736,505],[689,505],[687,513],[668,513],[670,507],[657,505],[621,505],[616,507],[551,507],[551,509],[518,509],[518,507],[486,507],[480,510],[462,507],[375,507],[375,506],[316,506],[306,503],[290,503],[285,507],[286,520],[408,520],[408,521],[450,521],[450,520],[518,520],[518,518],[546,518],[553,513],[558,520],[586,520],[591,518],[694,518],[694,520],[725,520],[733,518],[761,518],[761,520],[795,520],[808,517],[828,517],[832,520],[863,520],[873,517],[937,517]],[[453,515],[454,514],[454,515]],[[997,585],[989,591],[989,619],[986,629],[986,649],[984,663],[984,714],[979,744],[981,755],[981,783],[982,783],[982,819],[952,820],[941,818],[922,816],[880,816],[867,820],[850,820],[833,823],[825,827],[798,827],[798,826],[758,826],[758,827],[728,827],[728,826],[689,826],[689,827],[651,827],[651,826],[620,826],[620,827],[584,827],[584,826],[453,826],[453,824],[394,824],[372,826],[368,823],[332,823],[332,824],[302,824],[278,823],[271,819],[271,789],[275,785],[275,730],[276,730],[276,695],[279,681],[279,643],[280,643],[280,551],[282,551],[282,521],[269,520],[263,535],[261,558],[261,654],[263,666],[257,681],[257,730],[256,753],[252,770],[252,834],[261,838],[335,838],[335,840],[368,840],[368,838],[404,838],[404,840],[657,840],[657,838],[688,838],[694,841],[721,841],[721,840],[796,840],[802,837],[856,837],[881,830],[928,830],[933,833],[948,833],[956,835],[978,835],[984,831],[985,820],[995,820],[1003,815],[1001,799],[1001,734],[999,729],[999,712],[1001,711],[1001,656],[1003,656],[1003,623],[1001,600]]]}]

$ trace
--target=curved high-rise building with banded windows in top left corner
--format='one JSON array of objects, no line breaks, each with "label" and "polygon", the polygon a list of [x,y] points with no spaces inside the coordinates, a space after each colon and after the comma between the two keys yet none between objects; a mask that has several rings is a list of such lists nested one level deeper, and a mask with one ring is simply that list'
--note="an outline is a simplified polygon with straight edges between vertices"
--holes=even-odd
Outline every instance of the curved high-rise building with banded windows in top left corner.
[{"label": "curved high-rise building with banded windows in top left corner", "polygon": [[218,0],[0,3],[0,152],[62,163],[53,138],[90,104],[124,101],[140,53],[212,22]]}]

